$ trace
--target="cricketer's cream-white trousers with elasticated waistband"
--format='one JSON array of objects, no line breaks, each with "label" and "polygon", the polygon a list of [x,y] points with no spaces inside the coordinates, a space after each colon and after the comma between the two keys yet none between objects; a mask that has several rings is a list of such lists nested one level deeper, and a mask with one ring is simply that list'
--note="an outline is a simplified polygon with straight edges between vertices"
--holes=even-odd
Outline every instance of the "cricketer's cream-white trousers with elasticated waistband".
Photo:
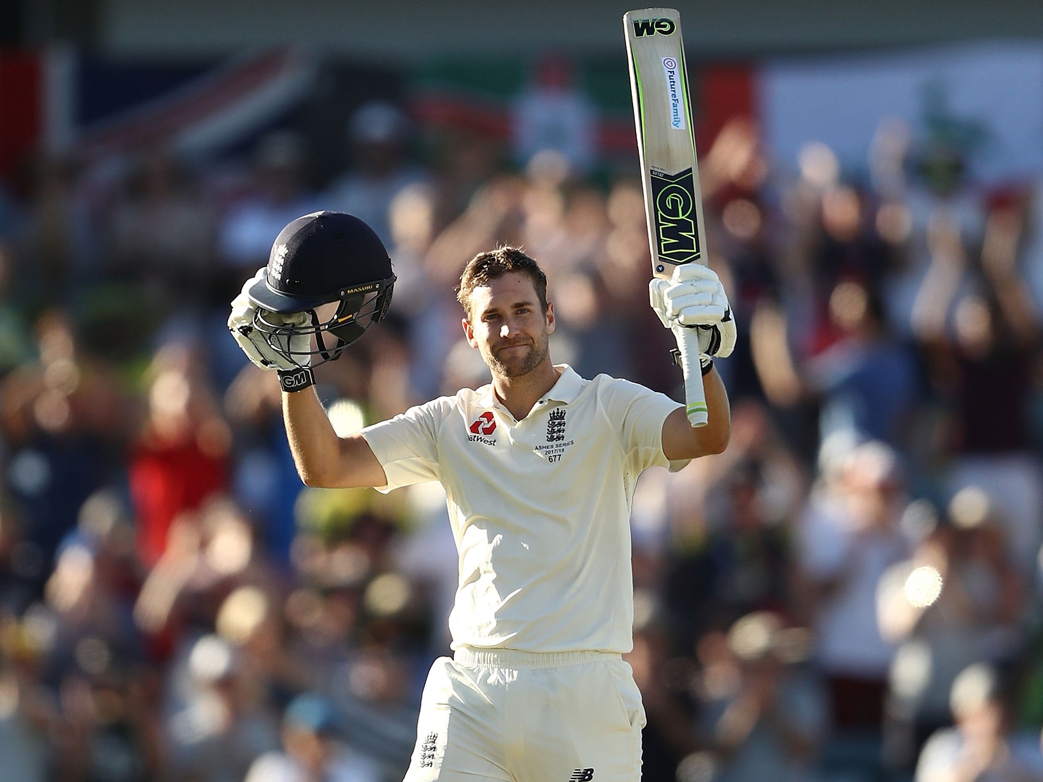
[{"label": "cricketer's cream-white trousers with elasticated waistband", "polygon": [[431,666],[405,782],[637,782],[644,727],[620,655],[460,649]]}]

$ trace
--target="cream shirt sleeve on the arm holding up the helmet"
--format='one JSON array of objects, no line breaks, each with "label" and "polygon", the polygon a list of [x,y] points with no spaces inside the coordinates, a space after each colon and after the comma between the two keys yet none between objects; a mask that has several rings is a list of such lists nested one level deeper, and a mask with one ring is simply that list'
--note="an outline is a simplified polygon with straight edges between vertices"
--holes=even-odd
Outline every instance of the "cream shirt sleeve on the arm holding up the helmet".
[{"label": "cream shirt sleeve on the arm holding up the helmet", "polygon": [[378,486],[378,491],[441,480],[438,430],[451,405],[452,399],[441,397],[362,430],[387,478],[387,485]]}]

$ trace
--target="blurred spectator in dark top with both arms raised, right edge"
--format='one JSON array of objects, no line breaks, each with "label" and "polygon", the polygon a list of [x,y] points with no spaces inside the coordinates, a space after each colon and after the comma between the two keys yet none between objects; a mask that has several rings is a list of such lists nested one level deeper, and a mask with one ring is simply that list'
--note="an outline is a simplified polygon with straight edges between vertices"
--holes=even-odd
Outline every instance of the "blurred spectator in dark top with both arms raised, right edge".
[{"label": "blurred spectator in dark top with both arms raised, right edge", "polygon": [[[931,266],[917,295],[915,323],[933,382],[951,410],[951,490],[976,485],[995,498],[1009,526],[1013,560],[1027,573],[1043,541],[1043,484],[1029,422],[1037,314],[1017,270],[1023,227],[1021,209],[993,209],[977,272],[957,227],[936,216]],[[980,414],[983,399],[989,400],[988,416]]]}]

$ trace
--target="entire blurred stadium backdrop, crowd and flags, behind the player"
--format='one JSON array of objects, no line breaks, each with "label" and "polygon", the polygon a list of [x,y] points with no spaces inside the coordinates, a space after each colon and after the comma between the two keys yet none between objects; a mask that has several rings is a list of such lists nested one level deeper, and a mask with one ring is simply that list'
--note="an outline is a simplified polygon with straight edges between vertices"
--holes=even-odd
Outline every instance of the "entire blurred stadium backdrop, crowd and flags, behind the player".
[{"label": "entire blurred stadium backdrop, crowd and flags, behind the player", "polygon": [[[517,242],[559,360],[676,393],[626,9],[0,10],[0,780],[401,778],[443,498],[302,490],[227,301],[299,214],[381,231],[346,432],[484,382],[451,288]],[[645,777],[1040,778],[1043,10],[680,9],[742,342],[729,450],[635,499]]]}]

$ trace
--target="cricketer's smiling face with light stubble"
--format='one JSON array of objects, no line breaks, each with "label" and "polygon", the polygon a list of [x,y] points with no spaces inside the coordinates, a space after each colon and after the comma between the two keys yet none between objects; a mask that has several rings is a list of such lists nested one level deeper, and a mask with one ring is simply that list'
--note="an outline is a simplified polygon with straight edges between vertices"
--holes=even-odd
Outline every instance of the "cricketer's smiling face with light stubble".
[{"label": "cricketer's smiling face with light stubble", "polygon": [[532,279],[511,272],[474,290],[463,329],[493,374],[520,377],[548,359],[554,304],[544,313]]}]

